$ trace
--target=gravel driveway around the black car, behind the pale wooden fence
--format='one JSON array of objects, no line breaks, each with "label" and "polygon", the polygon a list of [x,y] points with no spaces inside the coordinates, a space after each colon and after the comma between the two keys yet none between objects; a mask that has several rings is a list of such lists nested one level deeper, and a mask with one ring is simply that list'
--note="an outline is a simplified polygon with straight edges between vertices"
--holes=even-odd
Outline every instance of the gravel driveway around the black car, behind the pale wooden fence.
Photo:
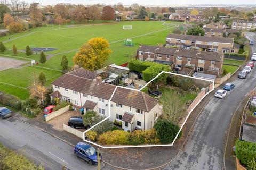
[{"label": "gravel driveway around the black car, behind the pale wooden fence", "polygon": [[53,125],[54,129],[63,131],[63,124],[68,124],[68,120],[71,116],[81,116],[81,114],[76,111],[67,111],[67,112],[53,118],[52,120],[48,121],[47,123]]}]

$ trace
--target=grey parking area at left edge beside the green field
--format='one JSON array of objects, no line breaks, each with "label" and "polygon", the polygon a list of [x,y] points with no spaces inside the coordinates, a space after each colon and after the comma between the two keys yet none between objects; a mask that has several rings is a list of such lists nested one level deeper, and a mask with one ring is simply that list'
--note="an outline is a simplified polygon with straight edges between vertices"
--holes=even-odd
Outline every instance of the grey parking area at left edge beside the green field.
[{"label": "grey parking area at left edge beside the green field", "polygon": [[0,71],[10,69],[10,68],[16,68],[19,67],[22,64],[27,63],[28,61],[23,60],[17,60],[13,58],[6,58],[6,57],[0,57]]}]

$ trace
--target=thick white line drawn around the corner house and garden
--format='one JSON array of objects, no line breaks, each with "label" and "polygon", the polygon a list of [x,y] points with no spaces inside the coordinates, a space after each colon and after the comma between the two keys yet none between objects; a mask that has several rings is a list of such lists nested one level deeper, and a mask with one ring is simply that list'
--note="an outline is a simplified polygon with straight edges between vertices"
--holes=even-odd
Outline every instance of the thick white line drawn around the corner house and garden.
[{"label": "thick white line drawn around the corner house and garden", "polygon": [[[100,123],[102,123],[103,121],[106,121],[108,118],[110,118],[110,115],[111,115],[111,99],[112,97],[114,96],[115,92],[116,92],[116,89],[119,87],[119,88],[124,88],[124,89],[129,89],[129,90],[135,90],[135,91],[141,91],[143,88],[145,88],[146,86],[148,86],[149,83],[151,83],[152,81],[154,81],[156,78],[158,78],[162,73],[166,73],[166,74],[172,74],[172,75],[178,75],[178,76],[181,76],[181,77],[187,77],[187,78],[192,78],[192,79],[197,79],[197,80],[204,80],[204,81],[209,81],[209,82],[212,82],[212,90],[208,91],[199,101],[198,103],[189,111],[185,121],[182,123],[181,127],[180,127],[180,130],[179,132],[177,133],[177,135],[175,136],[174,140],[172,141],[172,143],[170,144],[159,144],[159,145],[136,145],[136,146],[111,146],[111,147],[106,147],[106,146],[102,146],[102,145],[99,145],[98,143],[94,143],[92,141],[89,141],[89,140],[85,140],[85,133],[90,131],[91,129],[93,129],[95,126],[99,125]],[[155,78],[153,78],[152,80],[150,80],[147,84],[145,84],[145,86],[143,86],[141,89],[131,89],[131,88],[127,88],[127,87],[122,87],[122,86],[116,86],[115,87],[115,90],[113,91],[113,94],[111,95],[109,101],[108,101],[108,107],[109,107],[109,116],[106,117],[105,119],[103,119],[102,121],[100,121],[99,123],[93,125],[91,128],[87,129],[86,131],[83,132],[83,140],[85,142],[88,142],[88,143],[91,143],[95,146],[98,146],[98,147],[101,147],[103,149],[111,149],[111,148],[138,148],[138,147],[164,147],[164,146],[173,146],[175,140],[177,140],[183,126],[185,125],[185,123],[187,122],[188,120],[188,117],[190,116],[190,114],[194,111],[194,109],[197,107],[197,105],[205,98],[205,96],[207,96],[210,92],[212,92],[214,90],[214,80],[208,80],[208,79],[203,79],[203,78],[196,78],[196,77],[191,77],[189,75],[182,75],[182,74],[177,74],[177,73],[172,73],[172,72],[166,72],[166,71],[162,71],[161,73],[157,74]]]}]

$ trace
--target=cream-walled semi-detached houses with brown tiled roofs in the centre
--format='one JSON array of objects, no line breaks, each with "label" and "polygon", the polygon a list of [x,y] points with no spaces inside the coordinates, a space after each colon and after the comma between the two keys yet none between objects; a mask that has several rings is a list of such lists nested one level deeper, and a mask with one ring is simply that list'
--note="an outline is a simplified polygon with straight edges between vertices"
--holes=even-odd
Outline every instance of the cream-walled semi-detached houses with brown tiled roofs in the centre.
[{"label": "cream-walled semi-detached houses with brown tiled roofs in the centre", "polygon": [[158,100],[144,92],[103,83],[97,73],[83,68],[62,75],[52,82],[52,87],[51,98],[68,101],[75,108],[93,110],[101,116],[110,116],[110,121],[122,122],[125,131],[153,128],[162,111]]}]

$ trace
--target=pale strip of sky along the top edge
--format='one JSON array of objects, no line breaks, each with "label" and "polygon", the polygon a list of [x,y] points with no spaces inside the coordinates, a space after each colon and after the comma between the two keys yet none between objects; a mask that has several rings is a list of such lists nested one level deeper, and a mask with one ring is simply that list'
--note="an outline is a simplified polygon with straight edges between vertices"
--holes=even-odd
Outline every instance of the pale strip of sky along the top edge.
[{"label": "pale strip of sky along the top edge", "polygon": [[179,1],[168,1],[168,0],[29,0],[31,2],[38,2],[42,5],[47,4],[58,4],[58,3],[71,3],[71,4],[117,4],[121,2],[123,5],[131,5],[138,3],[139,5],[187,5],[187,4],[225,4],[225,5],[241,5],[241,4],[253,4],[256,6],[256,0],[179,0]]}]

